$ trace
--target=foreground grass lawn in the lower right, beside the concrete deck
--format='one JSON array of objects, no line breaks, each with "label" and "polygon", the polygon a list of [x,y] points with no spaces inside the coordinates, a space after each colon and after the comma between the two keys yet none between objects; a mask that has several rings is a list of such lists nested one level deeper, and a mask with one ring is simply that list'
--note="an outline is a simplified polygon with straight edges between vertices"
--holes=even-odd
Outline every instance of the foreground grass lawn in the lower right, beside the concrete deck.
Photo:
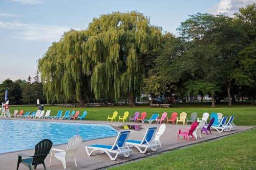
[{"label": "foreground grass lawn in the lower right, beside the concrete deck", "polygon": [[110,169],[256,169],[255,134],[253,129]]}]

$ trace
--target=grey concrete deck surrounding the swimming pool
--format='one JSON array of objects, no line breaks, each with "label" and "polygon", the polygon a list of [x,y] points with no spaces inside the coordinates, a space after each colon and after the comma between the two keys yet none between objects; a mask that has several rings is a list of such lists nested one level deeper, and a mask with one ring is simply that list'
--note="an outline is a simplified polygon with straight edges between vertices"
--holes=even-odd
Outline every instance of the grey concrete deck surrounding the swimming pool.
[{"label": "grey concrete deck surrounding the swimming pool", "polygon": [[[3,118],[7,119],[7,118]],[[14,119],[14,118],[8,118],[8,119]],[[19,118],[16,118],[15,120],[19,120]],[[88,124],[107,124],[111,125],[113,128],[115,128],[117,131],[122,131],[119,129],[120,126],[125,125],[126,123],[117,123],[117,122],[105,122],[105,121],[93,121],[93,120],[48,120],[48,119],[24,119],[20,118],[20,120],[37,120],[37,121],[47,121],[47,122],[67,122],[67,123],[88,123]],[[140,131],[135,131],[131,130],[129,139],[137,139],[140,140],[143,138],[143,135],[148,127],[157,127],[159,128],[159,124],[141,124],[141,123],[127,123],[129,125],[141,125],[141,130]],[[76,153],[76,160],[78,166],[74,165],[73,159],[67,159],[67,169],[98,169],[98,168],[103,168],[103,167],[108,167],[112,166],[115,164],[119,163],[124,163],[127,161],[131,160],[136,160],[139,158],[147,157],[150,155],[154,155],[157,153],[169,151],[172,149],[177,149],[177,148],[182,148],[186,147],[191,144],[196,144],[200,143],[203,141],[208,141],[208,140],[214,140],[220,137],[224,137],[233,133],[238,133],[242,132],[251,128],[254,128],[253,126],[247,127],[247,126],[238,126],[236,130],[230,131],[230,132],[222,132],[218,133],[216,130],[212,130],[212,135],[206,135],[205,133],[202,134],[202,139],[198,140],[190,140],[189,142],[182,137],[180,137],[179,140],[177,140],[178,136],[178,131],[179,129],[184,129],[190,127],[190,125],[170,125],[168,124],[166,126],[166,130],[164,132],[164,135],[160,138],[161,143],[162,143],[162,148],[158,148],[156,152],[148,150],[146,154],[140,154],[138,150],[133,148],[133,152],[130,155],[129,158],[123,157],[123,156],[118,156],[116,161],[112,161],[109,159],[109,157],[106,154],[102,154],[99,152],[95,152],[93,156],[88,156],[84,147],[86,145],[91,145],[91,144],[113,144],[116,137],[109,137],[109,138],[102,138],[102,139],[95,139],[95,140],[89,140],[89,141],[83,141],[78,152]],[[158,130],[157,130],[158,131]],[[3,139],[1,139],[3,140]],[[68,141],[67,141],[68,142]],[[18,143],[17,143],[18,144]],[[35,143],[36,144],[36,143]],[[66,149],[67,145],[66,144],[61,144],[57,146],[53,146],[53,148],[59,148],[59,149]],[[11,170],[11,169],[16,169],[17,165],[17,154],[18,153],[24,153],[28,155],[33,155],[34,150],[26,150],[26,151],[18,151],[18,152],[12,152],[12,153],[6,153],[6,154],[0,154],[0,169],[1,170]],[[52,160],[52,165],[49,166],[49,161],[50,161],[50,155],[47,156],[45,162],[46,162],[46,168],[47,169],[63,169],[62,163],[60,160],[53,158]],[[23,164],[19,165],[19,169],[28,169],[28,167],[24,166]],[[44,169],[42,165],[38,165],[37,169]]]}]

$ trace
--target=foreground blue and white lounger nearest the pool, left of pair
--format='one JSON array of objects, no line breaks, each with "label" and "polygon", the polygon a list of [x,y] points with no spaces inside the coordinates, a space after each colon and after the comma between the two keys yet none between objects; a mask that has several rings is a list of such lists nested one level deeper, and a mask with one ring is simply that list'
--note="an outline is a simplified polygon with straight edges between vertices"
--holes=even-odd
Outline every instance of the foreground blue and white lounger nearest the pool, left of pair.
[{"label": "foreground blue and white lounger nearest the pool, left of pair", "polygon": [[[129,157],[132,150],[125,144],[128,136],[130,134],[130,131],[122,131],[119,132],[116,138],[116,141],[113,145],[105,145],[105,144],[94,144],[90,145],[86,148],[86,152],[88,156],[91,156],[91,154],[94,151],[101,151],[106,153],[111,160],[116,160],[117,156],[120,154],[123,154],[124,157]],[[89,149],[92,149],[90,152]],[[112,156],[111,154],[116,154],[115,156]]]}]

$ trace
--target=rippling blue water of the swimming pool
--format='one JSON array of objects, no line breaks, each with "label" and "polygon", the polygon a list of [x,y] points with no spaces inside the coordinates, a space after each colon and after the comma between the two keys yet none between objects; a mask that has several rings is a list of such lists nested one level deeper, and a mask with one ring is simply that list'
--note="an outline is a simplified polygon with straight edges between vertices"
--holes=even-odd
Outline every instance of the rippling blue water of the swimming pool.
[{"label": "rippling blue water of the swimming pool", "polygon": [[109,125],[0,119],[0,154],[33,149],[46,138],[53,144],[67,143],[77,134],[90,140],[116,136],[117,132]]}]

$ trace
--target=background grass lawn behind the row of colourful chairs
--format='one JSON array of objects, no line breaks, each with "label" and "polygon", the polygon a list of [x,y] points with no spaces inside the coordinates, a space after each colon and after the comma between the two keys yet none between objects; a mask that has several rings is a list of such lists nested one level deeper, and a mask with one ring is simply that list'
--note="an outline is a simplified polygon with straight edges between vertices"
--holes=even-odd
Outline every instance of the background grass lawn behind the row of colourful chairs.
[{"label": "background grass lawn behind the row of colourful chairs", "polygon": [[[14,107],[10,108],[11,112],[15,109],[24,110],[24,111],[35,111],[37,107]],[[79,110],[80,112],[87,110],[88,115],[86,119],[88,120],[106,120],[108,115],[112,115],[114,111],[118,111],[119,115],[123,115],[124,111],[129,111],[131,115],[134,115],[134,112],[146,111],[147,117],[150,117],[153,113],[163,113],[167,112],[168,116],[172,112],[186,112],[188,113],[188,117],[192,112],[197,112],[198,116],[202,116],[204,112],[221,112],[223,115],[231,115],[234,114],[236,117],[234,118],[234,124],[236,125],[256,125],[256,107],[251,105],[234,105],[232,107],[228,107],[226,105],[219,105],[216,108],[211,108],[208,105],[201,104],[188,104],[188,105],[175,105],[172,108],[152,108],[148,106],[138,106],[138,107],[127,107],[127,106],[117,106],[117,107],[87,107],[87,108],[65,108],[65,107],[57,107],[57,106],[45,106],[44,110],[51,110],[51,115],[54,116],[57,114],[58,110]]]}]

